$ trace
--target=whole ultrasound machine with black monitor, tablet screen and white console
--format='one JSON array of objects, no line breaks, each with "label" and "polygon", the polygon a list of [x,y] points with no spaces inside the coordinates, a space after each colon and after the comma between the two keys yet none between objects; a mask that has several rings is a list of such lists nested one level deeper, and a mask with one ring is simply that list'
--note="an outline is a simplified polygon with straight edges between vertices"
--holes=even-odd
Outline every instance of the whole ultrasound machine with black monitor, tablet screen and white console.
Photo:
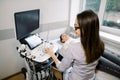
[{"label": "whole ultrasound machine with black monitor, tablet screen and white console", "polygon": [[[26,80],[52,80],[51,57],[45,53],[45,48],[51,48],[58,56],[58,46],[40,38],[32,32],[39,28],[40,10],[28,10],[14,13],[16,38],[20,42],[18,53],[24,58]],[[50,79],[51,78],[51,79]]]}]

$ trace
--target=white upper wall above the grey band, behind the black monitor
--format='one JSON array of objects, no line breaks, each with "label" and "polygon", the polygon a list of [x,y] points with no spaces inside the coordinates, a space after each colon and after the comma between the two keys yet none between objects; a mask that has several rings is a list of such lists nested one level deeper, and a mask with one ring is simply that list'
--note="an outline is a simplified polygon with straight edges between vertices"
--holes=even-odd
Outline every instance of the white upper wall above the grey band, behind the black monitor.
[{"label": "white upper wall above the grey band, behind the black monitor", "polygon": [[0,0],[0,29],[14,27],[14,12],[40,9],[42,24],[68,19],[69,0]]}]

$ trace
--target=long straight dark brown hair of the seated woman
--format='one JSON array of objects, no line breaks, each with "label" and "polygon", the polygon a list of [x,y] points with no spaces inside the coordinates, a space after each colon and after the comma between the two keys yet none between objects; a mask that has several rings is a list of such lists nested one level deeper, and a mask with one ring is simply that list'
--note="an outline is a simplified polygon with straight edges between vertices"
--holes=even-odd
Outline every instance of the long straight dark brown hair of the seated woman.
[{"label": "long straight dark brown hair of the seated woman", "polygon": [[86,62],[89,64],[97,60],[104,51],[104,43],[99,36],[99,19],[92,10],[86,10],[77,15],[77,20]]}]

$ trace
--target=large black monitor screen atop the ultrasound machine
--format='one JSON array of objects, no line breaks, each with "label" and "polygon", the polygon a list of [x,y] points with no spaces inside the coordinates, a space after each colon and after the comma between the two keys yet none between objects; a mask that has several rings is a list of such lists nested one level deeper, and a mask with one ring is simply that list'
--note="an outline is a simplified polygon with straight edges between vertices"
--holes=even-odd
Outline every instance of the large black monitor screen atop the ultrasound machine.
[{"label": "large black monitor screen atop the ultrasound machine", "polygon": [[15,28],[17,40],[20,40],[39,28],[39,9],[16,12]]}]

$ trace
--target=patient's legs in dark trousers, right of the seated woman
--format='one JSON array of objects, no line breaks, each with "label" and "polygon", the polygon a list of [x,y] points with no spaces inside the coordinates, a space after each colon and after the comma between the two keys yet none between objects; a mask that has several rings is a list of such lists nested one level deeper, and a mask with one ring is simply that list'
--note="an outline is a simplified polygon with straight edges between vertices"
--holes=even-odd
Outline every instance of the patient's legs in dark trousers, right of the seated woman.
[{"label": "patient's legs in dark trousers, right of the seated woman", "polygon": [[120,56],[105,50],[97,69],[120,78]]}]

